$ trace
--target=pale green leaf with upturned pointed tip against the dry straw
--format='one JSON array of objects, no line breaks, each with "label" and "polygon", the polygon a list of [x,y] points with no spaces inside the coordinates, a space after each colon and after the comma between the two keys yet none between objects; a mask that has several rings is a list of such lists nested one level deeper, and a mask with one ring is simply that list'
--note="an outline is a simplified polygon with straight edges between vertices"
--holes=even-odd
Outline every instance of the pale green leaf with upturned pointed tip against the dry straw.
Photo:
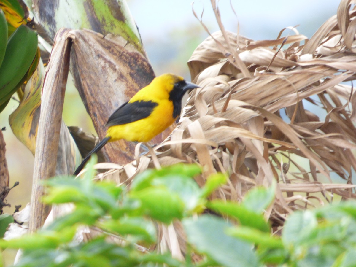
[{"label": "pale green leaf with upturned pointed tip against the dry straw", "polygon": [[244,198],[242,205],[255,213],[262,213],[274,199],[276,189],[276,181],[273,180],[269,188],[256,187],[250,190]]}]

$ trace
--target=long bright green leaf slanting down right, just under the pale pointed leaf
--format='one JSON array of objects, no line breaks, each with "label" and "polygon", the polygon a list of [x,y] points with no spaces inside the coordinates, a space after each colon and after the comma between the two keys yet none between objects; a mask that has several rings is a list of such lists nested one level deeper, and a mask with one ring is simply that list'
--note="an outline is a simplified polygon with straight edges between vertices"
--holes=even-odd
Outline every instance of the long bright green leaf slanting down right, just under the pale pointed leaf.
[{"label": "long bright green leaf slanting down right, just under the pale pointed leaf", "polygon": [[270,226],[266,223],[261,214],[254,213],[238,203],[213,200],[210,203],[207,203],[206,206],[221,214],[225,214],[239,220],[241,225],[250,226],[263,232],[270,231]]}]

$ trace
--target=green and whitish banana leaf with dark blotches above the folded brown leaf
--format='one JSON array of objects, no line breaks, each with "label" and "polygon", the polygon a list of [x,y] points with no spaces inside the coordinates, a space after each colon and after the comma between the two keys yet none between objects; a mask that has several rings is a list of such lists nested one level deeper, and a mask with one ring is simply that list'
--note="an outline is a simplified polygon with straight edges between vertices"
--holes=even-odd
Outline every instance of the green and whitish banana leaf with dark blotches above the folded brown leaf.
[{"label": "green and whitish banana leaf with dark blotches above the folded brown leaf", "polygon": [[89,29],[107,35],[122,36],[128,43],[145,53],[135,21],[124,0],[72,0],[56,1],[48,5],[48,0],[24,0],[35,15],[35,20],[53,41],[62,27],[69,29]]}]

